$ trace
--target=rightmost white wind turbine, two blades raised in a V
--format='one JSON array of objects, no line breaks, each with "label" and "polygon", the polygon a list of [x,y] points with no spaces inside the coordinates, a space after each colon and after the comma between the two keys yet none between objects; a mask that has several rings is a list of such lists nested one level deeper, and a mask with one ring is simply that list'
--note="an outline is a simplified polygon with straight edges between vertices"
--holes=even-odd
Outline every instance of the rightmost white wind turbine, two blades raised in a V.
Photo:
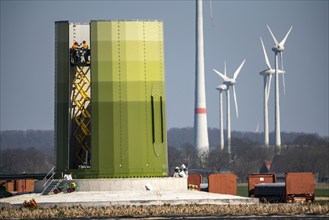
[{"label": "rightmost white wind turbine, two blades raised in a V", "polygon": [[[290,27],[289,31],[287,32],[286,36],[283,40],[279,43],[275,38],[274,34],[272,33],[270,27],[267,25],[268,30],[274,40],[275,46],[272,48],[275,54],[275,147],[276,153],[280,154],[281,151],[281,128],[280,128],[280,98],[279,98],[279,72],[278,72],[278,54],[280,54],[281,65],[283,70],[283,59],[282,59],[282,52],[284,51],[284,44],[288,38],[288,35],[292,29]],[[283,74],[284,75],[284,74]],[[284,82],[284,80],[283,80]],[[285,85],[284,90],[285,90]]]}]

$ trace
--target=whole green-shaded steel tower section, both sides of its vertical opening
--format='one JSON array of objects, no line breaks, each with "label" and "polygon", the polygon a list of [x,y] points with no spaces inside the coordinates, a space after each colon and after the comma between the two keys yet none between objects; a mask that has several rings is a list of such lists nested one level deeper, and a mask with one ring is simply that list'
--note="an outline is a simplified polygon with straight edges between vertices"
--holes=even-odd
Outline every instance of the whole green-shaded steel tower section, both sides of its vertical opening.
[{"label": "whole green-shaded steel tower section, both sides of its vertical opening", "polygon": [[[163,23],[90,22],[91,141],[86,147],[72,141],[79,111],[75,117],[70,114],[75,103],[70,94],[80,87],[73,86],[79,68],[72,67],[67,55],[72,37],[68,27],[56,23],[57,172],[75,178],[167,176]],[[80,69],[88,78],[89,69]],[[78,149],[85,149],[86,163],[74,156],[81,156]]]}]

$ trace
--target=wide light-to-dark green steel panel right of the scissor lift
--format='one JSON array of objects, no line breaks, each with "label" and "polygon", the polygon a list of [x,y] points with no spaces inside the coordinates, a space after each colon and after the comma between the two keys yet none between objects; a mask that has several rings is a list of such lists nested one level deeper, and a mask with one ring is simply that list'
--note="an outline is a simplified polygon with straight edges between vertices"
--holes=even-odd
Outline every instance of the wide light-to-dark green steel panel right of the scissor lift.
[{"label": "wide light-to-dark green steel panel right of the scissor lift", "polygon": [[168,174],[162,28],[91,22],[92,176]]}]

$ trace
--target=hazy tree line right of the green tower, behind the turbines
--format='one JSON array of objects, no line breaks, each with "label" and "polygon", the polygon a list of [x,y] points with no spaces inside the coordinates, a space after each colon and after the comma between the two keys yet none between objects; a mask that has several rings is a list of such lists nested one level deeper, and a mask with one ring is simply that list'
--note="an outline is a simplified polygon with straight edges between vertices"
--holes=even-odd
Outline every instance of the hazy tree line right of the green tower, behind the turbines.
[{"label": "hazy tree line right of the green tower, behind the turbines", "polygon": [[219,147],[219,129],[209,128],[210,151],[198,157],[193,147],[193,128],[168,130],[169,171],[185,164],[191,172],[235,173],[240,182],[246,182],[248,174],[259,173],[264,161],[271,162],[269,172],[314,172],[319,181],[329,181],[329,138],[318,134],[282,132],[282,149],[275,154],[274,132],[270,134],[270,147],[264,147],[263,133],[232,132],[231,155]]}]

